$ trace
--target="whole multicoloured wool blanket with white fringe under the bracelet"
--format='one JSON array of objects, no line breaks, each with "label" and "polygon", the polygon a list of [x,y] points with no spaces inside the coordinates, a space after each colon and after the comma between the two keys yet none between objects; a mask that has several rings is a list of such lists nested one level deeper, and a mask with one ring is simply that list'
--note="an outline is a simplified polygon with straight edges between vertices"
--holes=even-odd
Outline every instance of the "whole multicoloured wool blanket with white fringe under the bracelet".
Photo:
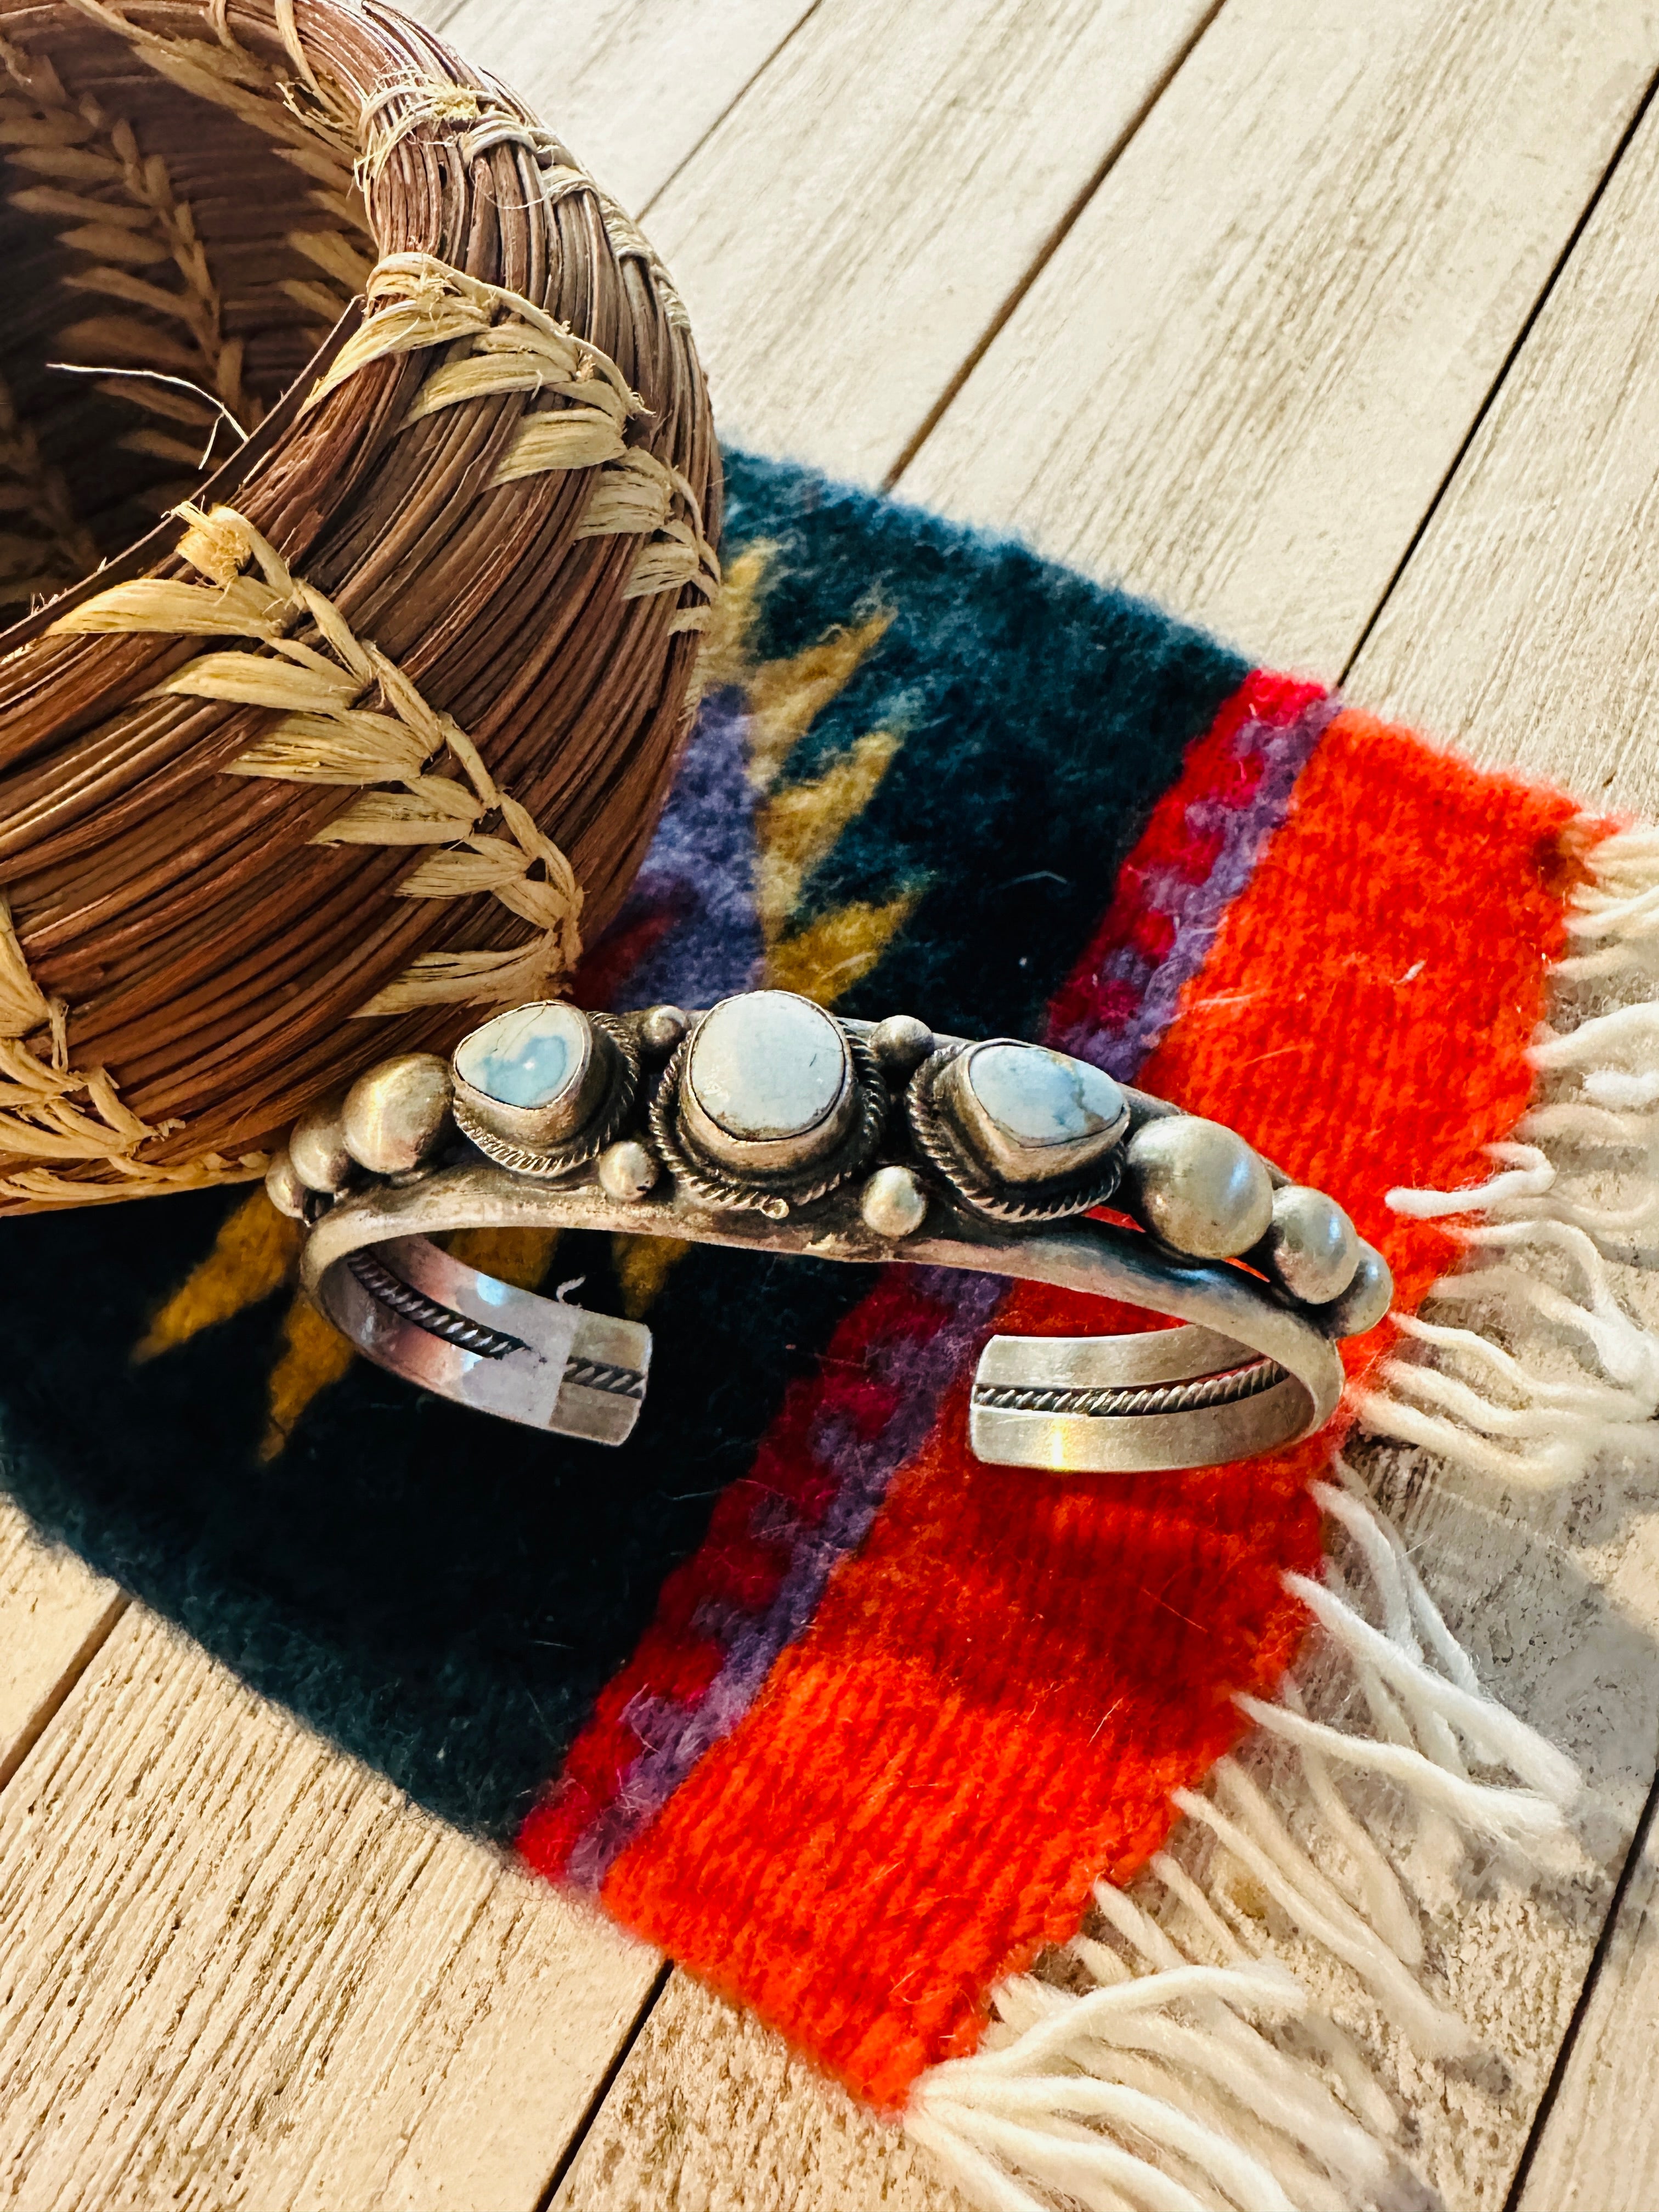
[{"label": "whole multicoloured wool blanket with white fringe under the bracelet", "polygon": [[[1571,1212],[1548,1139],[1617,1108],[1621,1062],[1613,1018],[1562,1026],[1559,993],[1586,960],[1624,973],[1655,852],[794,467],[730,458],[726,568],[679,781],[577,998],[765,982],[1044,1040],[1232,1124],[1394,1267],[1334,1431],[1188,1473],[984,1467],[993,1327],[1155,1316],[947,1270],[458,1239],[650,1323],[648,1405],[602,1453],[354,1360],[294,1292],[296,1228],[208,1192],[7,1223],[4,1484],[416,1801],[905,2115],[980,2201],[1365,2194],[1394,2152],[1363,2057],[1329,2022],[1318,2064],[1287,2055],[1318,2006],[1254,1955],[1239,1876],[1460,2048],[1378,1905],[1389,1820],[1420,1803],[1531,1847],[1573,1776],[1484,1694],[1334,1444],[1363,1416],[1500,1482],[1582,1464],[1546,1389],[1542,1431],[1482,1425],[1528,1402],[1502,1327],[1436,1349],[1413,1316],[1471,1221]],[[1540,1108],[1551,1068],[1571,1099]],[[1641,1400],[1584,1358],[1586,1389]],[[1323,1710],[1314,1644],[1347,1668]]]}]

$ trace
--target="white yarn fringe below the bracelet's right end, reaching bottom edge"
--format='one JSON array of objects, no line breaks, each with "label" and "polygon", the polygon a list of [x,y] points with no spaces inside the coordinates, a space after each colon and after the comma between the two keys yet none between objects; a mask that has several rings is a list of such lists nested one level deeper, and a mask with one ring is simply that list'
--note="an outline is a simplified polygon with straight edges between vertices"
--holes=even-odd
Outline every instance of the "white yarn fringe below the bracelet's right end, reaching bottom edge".
[{"label": "white yarn fringe below the bracelet's right end, reaching bottom edge", "polygon": [[[1099,1933],[1077,1936],[1044,1975],[1004,1982],[984,2048],[911,2093],[909,2135],[987,2212],[1323,2212],[1387,2199],[1394,2106],[1303,1982],[1256,1953],[1261,1911],[1239,1909],[1239,1882],[1340,1960],[1418,2053],[1473,2048],[1422,1984],[1422,1924],[1389,1807],[1420,1840],[1551,1865],[1579,1778],[1482,1692],[1400,1535],[1343,1460],[1334,1471],[1314,1495],[1340,1564],[1323,1582],[1285,1582],[1314,1615],[1321,1703],[1336,1719],[1310,1712],[1312,1686],[1287,1683],[1281,1703],[1239,1694],[1279,1754],[1272,1794],[1241,1759],[1223,1759],[1201,1792],[1177,1790],[1186,1829],[1135,1896],[1097,1882]],[[1365,1792],[1369,1816],[1343,1776],[1387,1785]],[[1323,1838],[1318,1863],[1301,1829]],[[1206,1845],[1208,1880],[1183,1863]]]}]

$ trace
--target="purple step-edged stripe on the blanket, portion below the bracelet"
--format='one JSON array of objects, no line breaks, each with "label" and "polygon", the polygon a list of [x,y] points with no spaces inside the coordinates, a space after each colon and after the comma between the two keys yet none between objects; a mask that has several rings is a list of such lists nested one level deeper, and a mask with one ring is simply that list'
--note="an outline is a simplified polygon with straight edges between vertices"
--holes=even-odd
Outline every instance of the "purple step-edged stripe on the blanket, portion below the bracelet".
[{"label": "purple step-edged stripe on the blanket, portion below the bracelet", "polygon": [[863,1544],[898,1469],[920,1451],[940,1398],[978,1349],[1006,1292],[995,1274],[956,1267],[918,1267],[922,1296],[945,1307],[931,1336],[902,1336],[872,1352],[874,1371],[896,1387],[898,1407],[876,1436],[858,1436],[838,1416],[812,1433],[814,1460],[832,1469],[836,1489],[818,1522],[801,1520],[779,1498],[761,1498],[750,1528],[770,1544],[790,1546],[783,1584],[763,1613],[706,1608],[697,1626],[726,1646],[719,1674],[695,1705],[666,1697],[637,1697],[624,1719],[648,1745],[628,1767],[619,1794],[593,1820],[566,1867],[566,1880],[597,1889],[606,1869],[646,1823],[661,1812],[710,1745],[730,1736],[772,1672],[774,1661],[818,1610],[838,1559]]}]

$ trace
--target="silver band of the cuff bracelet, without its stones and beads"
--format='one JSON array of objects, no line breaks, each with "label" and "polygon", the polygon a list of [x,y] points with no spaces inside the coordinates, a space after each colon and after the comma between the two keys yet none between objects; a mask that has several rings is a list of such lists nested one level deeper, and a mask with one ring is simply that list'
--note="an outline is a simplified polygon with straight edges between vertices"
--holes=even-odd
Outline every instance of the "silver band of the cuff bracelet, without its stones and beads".
[{"label": "silver band of the cuff bracelet, without its stones and beads", "polygon": [[[639,1323],[582,1314],[535,1292],[495,1283],[451,1261],[431,1237],[458,1228],[586,1228],[655,1232],[697,1243],[796,1250],[814,1259],[883,1263],[889,1243],[858,1219],[790,1228],[763,1214],[710,1214],[695,1201],[661,1192],[650,1206],[608,1197],[597,1183],[562,1186],[518,1177],[495,1166],[453,1166],[418,1183],[380,1186],[336,1203],[310,1232],[303,1281],[327,1318],[369,1358],[460,1405],[533,1427],[619,1442],[639,1400],[606,1398],[566,1383],[566,1363],[582,1354],[650,1365],[650,1332]],[[1265,1285],[1237,1267],[1157,1261],[1144,1237],[1106,1221],[1068,1221],[1040,1234],[978,1221],[956,1208],[905,1243],[902,1259],[978,1274],[1022,1276],[1064,1290],[1093,1292],[1126,1305],[1148,1305],[1188,1327],[1146,1336],[993,1336],[980,1358],[971,1409],[971,1444],[982,1460],[1042,1467],[1055,1473],[1099,1469],[1210,1467],[1287,1444],[1336,1411],[1343,1367],[1334,1345],[1307,1318],[1287,1310]],[[374,1252],[392,1274],[440,1296],[451,1310],[484,1321],[524,1349],[504,1356],[467,1352],[407,1321],[365,1290],[352,1259]],[[577,1329],[580,1325],[580,1329]],[[1057,1380],[1102,1385],[1188,1383],[1267,1360],[1281,1380],[1256,1396],[1146,1411],[1037,1411],[995,1402],[998,1389],[1044,1389]]]}]

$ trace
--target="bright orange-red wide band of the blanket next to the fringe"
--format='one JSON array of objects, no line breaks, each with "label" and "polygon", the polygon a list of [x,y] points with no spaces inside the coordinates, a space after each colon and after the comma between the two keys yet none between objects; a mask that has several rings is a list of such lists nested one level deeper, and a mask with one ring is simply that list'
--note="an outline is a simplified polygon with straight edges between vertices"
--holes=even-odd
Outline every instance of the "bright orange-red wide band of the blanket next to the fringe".
[{"label": "bright orange-red wide band of the blanket next to the fringe", "polygon": [[[1455,1248],[1383,1194],[1482,1179],[1522,1113],[1571,818],[1338,717],[1144,1073],[1338,1192],[1402,1303]],[[1002,1325],[1115,1323],[1020,1287]],[[1170,1790],[1239,1732],[1230,1692],[1272,1692],[1294,1655],[1281,1571],[1318,1559],[1303,1484],[1329,1440],[1055,1482],[980,1467],[964,1405],[967,1378],[754,1710],[604,1885],[876,2104],[971,2048],[989,1986],[1157,1849]]]}]

